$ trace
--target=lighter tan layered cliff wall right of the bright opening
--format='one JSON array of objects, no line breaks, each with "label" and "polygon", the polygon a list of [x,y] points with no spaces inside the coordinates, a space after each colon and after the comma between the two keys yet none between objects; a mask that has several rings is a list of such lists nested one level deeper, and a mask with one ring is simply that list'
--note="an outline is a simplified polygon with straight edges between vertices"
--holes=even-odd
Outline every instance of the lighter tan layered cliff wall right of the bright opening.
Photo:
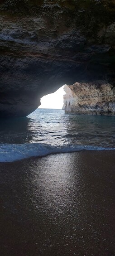
[{"label": "lighter tan layered cliff wall right of the bright opening", "polygon": [[115,86],[106,81],[64,86],[65,113],[115,116]]}]

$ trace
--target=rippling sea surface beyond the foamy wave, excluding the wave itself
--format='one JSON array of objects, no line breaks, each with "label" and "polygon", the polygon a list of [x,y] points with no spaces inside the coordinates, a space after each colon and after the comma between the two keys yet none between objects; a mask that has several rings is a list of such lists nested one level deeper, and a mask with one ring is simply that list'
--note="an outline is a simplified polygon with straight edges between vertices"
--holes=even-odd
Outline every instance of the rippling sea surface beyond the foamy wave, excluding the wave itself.
[{"label": "rippling sea surface beyond the foamy wave, excluding the wave itself", "polygon": [[0,120],[0,143],[115,146],[115,117],[66,115],[37,109],[28,117]]}]

